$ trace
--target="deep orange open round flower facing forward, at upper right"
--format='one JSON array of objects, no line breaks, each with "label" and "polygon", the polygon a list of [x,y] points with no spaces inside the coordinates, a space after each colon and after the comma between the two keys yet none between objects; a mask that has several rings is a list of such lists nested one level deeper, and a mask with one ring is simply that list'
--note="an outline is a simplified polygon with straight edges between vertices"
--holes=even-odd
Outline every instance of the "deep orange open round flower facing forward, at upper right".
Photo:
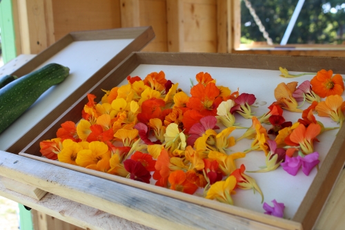
[{"label": "deep orange open round flower facing forward, at upper right", "polygon": [[342,75],[336,74],[333,77],[332,75],[332,70],[319,70],[317,75],[311,79],[311,87],[320,97],[342,95],[344,91]]}]

